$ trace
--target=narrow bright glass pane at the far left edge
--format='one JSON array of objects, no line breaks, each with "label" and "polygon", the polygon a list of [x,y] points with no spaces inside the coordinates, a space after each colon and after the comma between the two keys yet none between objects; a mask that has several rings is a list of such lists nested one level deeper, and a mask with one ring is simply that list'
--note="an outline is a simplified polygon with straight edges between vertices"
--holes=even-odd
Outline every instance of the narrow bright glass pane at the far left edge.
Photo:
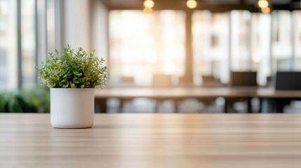
[{"label": "narrow bright glass pane at the far left edge", "polygon": [[17,1],[0,0],[0,90],[17,87]]}]

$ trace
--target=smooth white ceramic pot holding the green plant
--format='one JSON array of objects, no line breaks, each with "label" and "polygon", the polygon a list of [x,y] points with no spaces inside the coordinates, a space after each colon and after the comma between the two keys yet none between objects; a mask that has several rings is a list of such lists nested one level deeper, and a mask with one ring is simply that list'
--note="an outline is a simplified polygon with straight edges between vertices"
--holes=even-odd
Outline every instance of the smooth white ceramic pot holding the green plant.
[{"label": "smooth white ceramic pot holding the green plant", "polygon": [[93,88],[51,88],[51,125],[86,128],[94,123]]}]

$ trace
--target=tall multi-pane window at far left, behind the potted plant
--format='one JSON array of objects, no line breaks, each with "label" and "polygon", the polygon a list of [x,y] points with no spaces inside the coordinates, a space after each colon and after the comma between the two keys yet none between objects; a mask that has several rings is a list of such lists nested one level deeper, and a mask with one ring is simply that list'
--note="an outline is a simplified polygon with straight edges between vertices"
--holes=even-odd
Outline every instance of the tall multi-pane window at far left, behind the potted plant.
[{"label": "tall multi-pane window at far left, behind the potted plant", "polygon": [[[18,6],[21,8],[20,18],[17,18]],[[37,13],[35,13],[35,6]],[[21,21],[22,60],[18,60],[18,19]],[[54,0],[27,0],[20,1],[20,4],[16,0],[0,0],[0,90],[18,87],[18,62],[20,61],[22,61],[22,87],[36,86],[34,69],[36,60],[41,62],[46,59],[48,45],[54,48],[54,33]],[[36,43],[36,35],[38,43]],[[48,39],[48,36],[51,37]],[[36,48],[39,49],[37,55]]]}]

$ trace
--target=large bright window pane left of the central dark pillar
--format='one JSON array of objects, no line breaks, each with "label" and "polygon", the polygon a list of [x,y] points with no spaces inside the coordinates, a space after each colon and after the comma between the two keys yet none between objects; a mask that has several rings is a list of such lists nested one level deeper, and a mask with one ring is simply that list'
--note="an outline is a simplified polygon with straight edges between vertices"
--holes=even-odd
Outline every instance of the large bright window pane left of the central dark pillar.
[{"label": "large bright window pane left of the central dark pillar", "polygon": [[150,85],[154,73],[185,71],[185,13],[176,10],[112,10],[109,13],[110,83],[121,77]]}]

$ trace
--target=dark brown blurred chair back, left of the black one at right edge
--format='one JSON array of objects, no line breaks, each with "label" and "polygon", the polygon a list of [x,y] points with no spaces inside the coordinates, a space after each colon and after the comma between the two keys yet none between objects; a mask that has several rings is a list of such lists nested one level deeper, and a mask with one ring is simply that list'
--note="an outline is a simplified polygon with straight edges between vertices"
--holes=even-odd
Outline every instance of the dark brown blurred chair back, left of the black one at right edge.
[{"label": "dark brown blurred chair back, left of the black one at right edge", "polygon": [[256,71],[232,71],[231,86],[257,86]]}]

